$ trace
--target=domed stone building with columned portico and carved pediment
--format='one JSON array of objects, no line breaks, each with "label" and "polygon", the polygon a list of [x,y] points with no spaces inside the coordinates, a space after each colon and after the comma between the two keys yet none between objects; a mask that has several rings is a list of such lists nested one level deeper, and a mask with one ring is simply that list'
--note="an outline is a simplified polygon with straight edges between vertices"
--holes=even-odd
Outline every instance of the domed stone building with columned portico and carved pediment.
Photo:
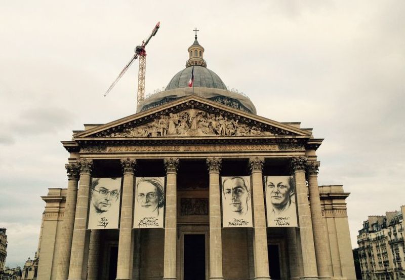
[{"label": "domed stone building with columned portico and carved pediment", "polygon": [[[186,68],[135,114],[62,141],[67,189],[42,197],[38,279],[354,279],[349,193],[317,183],[323,139],[257,115],[207,68],[196,37],[188,55]],[[95,184],[108,178],[121,178],[121,189]],[[152,191],[141,191],[144,178]],[[156,178],[166,181],[164,195]],[[271,186],[273,178],[291,181]],[[99,216],[93,225],[111,201],[119,218]],[[136,220],[137,203],[153,205],[155,219]],[[289,216],[269,219],[276,209]]]}]

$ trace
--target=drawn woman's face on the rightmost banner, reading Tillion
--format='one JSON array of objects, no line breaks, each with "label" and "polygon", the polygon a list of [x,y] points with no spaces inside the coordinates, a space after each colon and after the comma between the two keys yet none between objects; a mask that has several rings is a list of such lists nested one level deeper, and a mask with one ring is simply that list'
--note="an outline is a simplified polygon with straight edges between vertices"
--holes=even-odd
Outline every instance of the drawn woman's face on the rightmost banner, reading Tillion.
[{"label": "drawn woman's face on the rightmost banner, reading Tillion", "polygon": [[274,208],[285,209],[291,204],[294,189],[288,176],[271,177],[266,182],[266,191]]}]

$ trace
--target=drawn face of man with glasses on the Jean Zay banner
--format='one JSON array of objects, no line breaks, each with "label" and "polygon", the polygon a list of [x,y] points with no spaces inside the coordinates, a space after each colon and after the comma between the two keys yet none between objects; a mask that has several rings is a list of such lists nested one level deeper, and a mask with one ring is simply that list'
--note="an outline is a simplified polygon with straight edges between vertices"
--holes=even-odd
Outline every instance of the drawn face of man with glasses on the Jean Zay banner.
[{"label": "drawn face of man with glasses on the Jean Zay banner", "polygon": [[119,197],[120,187],[121,181],[117,178],[93,179],[91,203],[96,213],[103,213],[110,209]]}]

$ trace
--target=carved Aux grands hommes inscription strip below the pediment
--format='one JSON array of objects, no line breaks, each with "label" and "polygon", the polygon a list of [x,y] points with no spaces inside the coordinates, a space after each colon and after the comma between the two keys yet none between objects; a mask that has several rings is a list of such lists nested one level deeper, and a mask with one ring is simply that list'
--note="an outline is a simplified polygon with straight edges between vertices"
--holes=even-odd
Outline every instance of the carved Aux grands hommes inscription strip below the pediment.
[{"label": "carved Aux grands hommes inscription strip below the pediment", "polygon": [[107,152],[195,152],[195,151],[268,151],[278,150],[271,145],[200,145],[200,146],[108,146]]}]

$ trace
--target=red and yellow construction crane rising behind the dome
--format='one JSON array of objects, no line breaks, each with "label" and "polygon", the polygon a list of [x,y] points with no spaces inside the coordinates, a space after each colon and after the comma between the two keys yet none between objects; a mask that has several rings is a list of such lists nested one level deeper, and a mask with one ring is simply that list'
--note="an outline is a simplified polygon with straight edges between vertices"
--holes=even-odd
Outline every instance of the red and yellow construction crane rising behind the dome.
[{"label": "red and yellow construction crane rising behind the dome", "polygon": [[149,37],[142,41],[141,46],[137,46],[135,48],[135,55],[133,58],[128,62],[128,64],[124,67],[124,69],[119,73],[118,77],[115,81],[111,84],[108,90],[105,92],[104,97],[112,90],[115,84],[119,81],[119,79],[125,74],[128,68],[131,66],[132,62],[139,57],[139,72],[138,72],[138,93],[137,93],[137,104],[143,101],[145,97],[145,73],[146,73],[146,51],[145,47],[148,45],[152,36],[156,35],[157,29],[160,27],[160,22],[156,23],[155,27],[150,33]]}]

